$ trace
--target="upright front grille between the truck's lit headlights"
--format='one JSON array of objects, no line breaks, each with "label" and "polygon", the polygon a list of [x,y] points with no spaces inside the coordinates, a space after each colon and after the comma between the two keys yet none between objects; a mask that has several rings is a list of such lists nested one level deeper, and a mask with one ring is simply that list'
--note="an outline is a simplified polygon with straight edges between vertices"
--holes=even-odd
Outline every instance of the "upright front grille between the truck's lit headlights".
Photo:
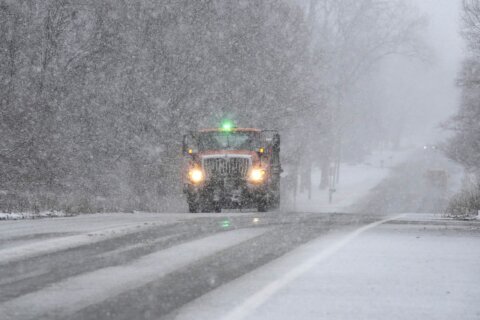
[{"label": "upright front grille between the truck's lit headlights", "polygon": [[246,177],[250,167],[250,158],[206,158],[203,159],[203,168],[208,178],[212,176],[240,176]]}]

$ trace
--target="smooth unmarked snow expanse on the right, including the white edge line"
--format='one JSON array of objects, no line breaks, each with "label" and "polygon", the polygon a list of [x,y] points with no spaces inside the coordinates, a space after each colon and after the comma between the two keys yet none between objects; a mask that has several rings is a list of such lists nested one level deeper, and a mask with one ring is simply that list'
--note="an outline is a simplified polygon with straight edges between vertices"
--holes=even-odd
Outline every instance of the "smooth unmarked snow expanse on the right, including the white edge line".
[{"label": "smooth unmarked snow expanse on the right, including the white edge line", "polygon": [[479,248],[478,223],[409,215],[317,239],[172,318],[480,319]]}]

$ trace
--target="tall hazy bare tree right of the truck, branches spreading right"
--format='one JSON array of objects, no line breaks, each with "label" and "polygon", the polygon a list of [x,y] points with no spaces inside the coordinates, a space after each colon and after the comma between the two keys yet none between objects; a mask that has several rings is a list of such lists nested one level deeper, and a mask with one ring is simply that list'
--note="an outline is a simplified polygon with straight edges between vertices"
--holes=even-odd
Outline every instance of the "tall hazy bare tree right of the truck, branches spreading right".
[{"label": "tall hazy bare tree right of the truck, branches spreading right", "polygon": [[[368,127],[376,121],[374,108],[366,110],[370,117],[359,117],[355,106],[348,104],[352,88],[389,55],[423,58],[426,50],[419,35],[425,19],[403,1],[311,0],[308,21],[310,67],[316,92],[321,93],[316,105],[324,109],[315,121],[323,130],[312,141],[322,150],[321,187],[326,187],[332,161],[338,180],[342,146],[349,140],[345,138],[351,138],[345,128]],[[365,123],[366,119],[372,122]]]}]

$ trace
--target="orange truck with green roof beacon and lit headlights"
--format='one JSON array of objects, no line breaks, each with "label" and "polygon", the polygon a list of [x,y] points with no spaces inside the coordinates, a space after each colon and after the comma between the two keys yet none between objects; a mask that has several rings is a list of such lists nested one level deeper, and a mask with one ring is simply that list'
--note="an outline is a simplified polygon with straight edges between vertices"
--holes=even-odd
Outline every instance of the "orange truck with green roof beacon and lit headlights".
[{"label": "orange truck with green roof beacon and lit headlights", "polygon": [[184,193],[190,212],[276,209],[280,205],[280,135],[275,130],[220,128],[183,138]]}]

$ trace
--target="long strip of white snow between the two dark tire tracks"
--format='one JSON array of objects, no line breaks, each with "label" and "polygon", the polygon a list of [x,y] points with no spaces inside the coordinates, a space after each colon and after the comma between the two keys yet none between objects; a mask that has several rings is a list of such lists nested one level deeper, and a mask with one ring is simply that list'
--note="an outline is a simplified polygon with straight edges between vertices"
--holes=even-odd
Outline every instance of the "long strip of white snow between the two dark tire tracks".
[{"label": "long strip of white snow between the two dark tire tracks", "polygon": [[179,268],[265,233],[268,228],[221,232],[146,255],[132,263],[99,269],[54,283],[0,304],[2,320],[57,319],[139,288]]}]

